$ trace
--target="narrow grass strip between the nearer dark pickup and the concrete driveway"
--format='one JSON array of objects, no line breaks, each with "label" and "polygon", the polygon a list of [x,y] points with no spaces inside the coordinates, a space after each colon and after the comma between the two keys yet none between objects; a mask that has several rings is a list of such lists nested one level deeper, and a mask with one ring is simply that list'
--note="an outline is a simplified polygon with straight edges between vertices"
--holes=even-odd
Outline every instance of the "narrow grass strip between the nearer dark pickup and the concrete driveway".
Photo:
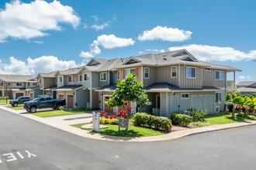
[{"label": "narrow grass strip between the nearer dark pickup and the concrete driveway", "polygon": [[83,114],[86,112],[90,112],[90,110],[47,110],[47,111],[39,111],[36,112],[35,116],[38,117],[53,117],[53,116],[61,116],[67,114]]}]

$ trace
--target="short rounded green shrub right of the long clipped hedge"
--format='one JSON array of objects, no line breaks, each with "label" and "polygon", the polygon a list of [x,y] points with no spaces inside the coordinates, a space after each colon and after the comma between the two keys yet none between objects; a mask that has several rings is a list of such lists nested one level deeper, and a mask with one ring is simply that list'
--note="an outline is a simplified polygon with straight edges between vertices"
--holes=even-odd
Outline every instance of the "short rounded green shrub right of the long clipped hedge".
[{"label": "short rounded green shrub right of the long clipped hedge", "polygon": [[171,113],[171,121],[173,124],[181,125],[181,126],[189,126],[192,123],[193,117],[183,114],[182,112],[172,112]]}]

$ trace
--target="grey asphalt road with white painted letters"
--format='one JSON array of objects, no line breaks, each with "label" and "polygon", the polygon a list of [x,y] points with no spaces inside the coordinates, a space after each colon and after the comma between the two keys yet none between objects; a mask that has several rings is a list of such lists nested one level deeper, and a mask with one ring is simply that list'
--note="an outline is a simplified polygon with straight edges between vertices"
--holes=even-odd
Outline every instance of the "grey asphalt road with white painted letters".
[{"label": "grey asphalt road with white painted letters", "polygon": [[255,169],[256,126],[171,141],[81,138],[0,109],[0,169]]}]

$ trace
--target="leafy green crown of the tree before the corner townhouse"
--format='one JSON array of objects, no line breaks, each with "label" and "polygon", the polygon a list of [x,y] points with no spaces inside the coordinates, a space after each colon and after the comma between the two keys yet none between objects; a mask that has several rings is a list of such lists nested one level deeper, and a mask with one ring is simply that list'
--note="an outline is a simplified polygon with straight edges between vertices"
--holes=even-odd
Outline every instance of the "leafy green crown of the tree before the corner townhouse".
[{"label": "leafy green crown of the tree before the corner townhouse", "polygon": [[137,107],[142,108],[144,104],[150,105],[147,93],[143,90],[143,84],[137,80],[136,75],[129,74],[125,80],[117,81],[115,93],[109,101],[106,101],[106,107],[120,107],[128,105],[126,101],[137,102]]}]

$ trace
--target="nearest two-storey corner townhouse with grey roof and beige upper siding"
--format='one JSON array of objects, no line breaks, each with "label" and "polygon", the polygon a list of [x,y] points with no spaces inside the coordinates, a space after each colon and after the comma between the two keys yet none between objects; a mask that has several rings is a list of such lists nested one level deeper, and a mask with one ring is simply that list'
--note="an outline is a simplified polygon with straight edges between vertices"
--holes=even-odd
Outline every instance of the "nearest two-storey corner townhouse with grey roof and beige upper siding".
[{"label": "nearest two-storey corner townhouse with grey roof and beige upper siding", "polygon": [[[215,113],[225,110],[224,96],[227,90],[235,88],[236,71],[240,70],[199,61],[186,49],[131,56],[117,59],[111,71],[107,72],[109,84],[96,91],[99,91],[101,109],[117,112],[122,108],[106,108],[104,101],[109,100],[116,89],[116,80],[123,80],[133,73],[143,82],[144,90],[152,102],[152,105],[141,111],[163,117],[168,117],[172,111],[186,111],[189,108]],[[230,72],[234,73],[234,80],[228,81],[227,73]],[[136,104],[131,105],[136,110]]]}]

